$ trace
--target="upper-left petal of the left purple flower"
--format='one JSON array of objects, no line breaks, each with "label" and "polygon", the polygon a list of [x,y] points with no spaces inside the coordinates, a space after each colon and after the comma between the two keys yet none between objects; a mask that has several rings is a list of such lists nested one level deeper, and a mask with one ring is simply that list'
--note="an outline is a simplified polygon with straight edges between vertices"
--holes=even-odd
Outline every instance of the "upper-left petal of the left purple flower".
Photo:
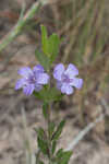
[{"label": "upper-left petal of the left purple flower", "polygon": [[33,71],[31,70],[29,67],[23,67],[22,69],[20,69],[20,70],[17,71],[17,73],[19,73],[20,75],[23,75],[23,77],[25,77],[25,78],[28,78],[29,75],[33,74]]}]

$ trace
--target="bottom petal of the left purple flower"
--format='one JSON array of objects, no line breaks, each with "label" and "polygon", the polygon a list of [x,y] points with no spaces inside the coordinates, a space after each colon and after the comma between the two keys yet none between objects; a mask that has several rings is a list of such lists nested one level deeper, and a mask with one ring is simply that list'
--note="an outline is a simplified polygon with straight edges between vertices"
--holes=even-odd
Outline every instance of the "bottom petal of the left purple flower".
[{"label": "bottom petal of the left purple flower", "polygon": [[31,95],[35,90],[35,85],[34,84],[28,84],[26,86],[23,87],[23,92],[25,95]]}]

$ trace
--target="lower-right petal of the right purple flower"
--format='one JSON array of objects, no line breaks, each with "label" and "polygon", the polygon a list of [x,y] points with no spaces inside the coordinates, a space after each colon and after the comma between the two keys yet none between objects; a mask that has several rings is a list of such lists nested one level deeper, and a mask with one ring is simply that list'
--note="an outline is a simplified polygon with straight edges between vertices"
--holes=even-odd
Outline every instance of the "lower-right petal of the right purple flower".
[{"label": "lower-right petal of the right purple flower", "polygon": [[83,79],[74,78],[70,84],[76,89],[81,89],[83,86]]}]

